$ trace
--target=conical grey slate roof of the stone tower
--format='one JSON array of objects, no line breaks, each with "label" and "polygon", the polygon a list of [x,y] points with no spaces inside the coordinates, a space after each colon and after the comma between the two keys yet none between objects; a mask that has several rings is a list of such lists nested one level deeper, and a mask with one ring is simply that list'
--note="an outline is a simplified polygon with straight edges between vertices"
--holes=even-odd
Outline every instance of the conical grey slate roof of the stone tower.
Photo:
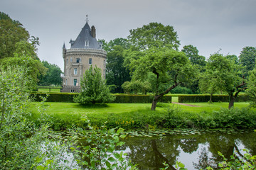
[{"label": "conical grey slate roof of the stone tower", "polygon": [[85,26],[82,28],[81,32],[78,35],[78,38],[71,42],[71,48],[93,48],[100,49],[100,45],[97,42],[96,38],[92,37],[91,28],[86,22]]}]

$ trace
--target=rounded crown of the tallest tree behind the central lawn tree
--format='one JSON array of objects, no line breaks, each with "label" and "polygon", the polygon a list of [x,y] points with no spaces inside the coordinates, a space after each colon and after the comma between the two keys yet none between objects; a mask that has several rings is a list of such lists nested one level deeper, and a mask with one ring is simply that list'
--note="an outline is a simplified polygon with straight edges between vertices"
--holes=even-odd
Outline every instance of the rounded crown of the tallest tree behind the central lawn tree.
[{"label": "rounded crown of the tallest tree behind the central lawn tree", "polygon": [[173,26],[164,26],[161,23],[149,23],[134,30],[129,30],[129,43],[139,50],[148,50],[151,47],[172,47],[178,50],[180,42]]}]

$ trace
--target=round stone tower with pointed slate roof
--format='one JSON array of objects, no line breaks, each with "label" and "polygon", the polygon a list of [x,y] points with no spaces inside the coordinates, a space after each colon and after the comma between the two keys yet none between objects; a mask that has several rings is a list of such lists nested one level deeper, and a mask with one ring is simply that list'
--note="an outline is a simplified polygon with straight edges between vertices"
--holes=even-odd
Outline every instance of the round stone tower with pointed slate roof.
[{"label": "round stone tower with pointed slate roof", "polygon": [[86,21],[76,40],[70,40],[70,49],[63,45],[64,74],[62,92],[79,92],[80,80],[86,69],[97,66],[105,79],[107,52],[102,42],[96,40],[95,26],[90,28]]}]

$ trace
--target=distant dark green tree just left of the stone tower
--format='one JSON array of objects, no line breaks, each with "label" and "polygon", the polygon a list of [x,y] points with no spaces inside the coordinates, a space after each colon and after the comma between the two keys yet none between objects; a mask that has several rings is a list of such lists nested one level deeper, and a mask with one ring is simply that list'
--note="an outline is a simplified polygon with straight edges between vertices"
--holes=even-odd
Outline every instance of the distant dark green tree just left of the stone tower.
[{"label": "distant dark green tree just left of the stone tower", "polygon": [[56,85],[61,85],[62,84],[62,79],[60,77],[60,74],[63,73],[56,64],[50,64],[47,61],[43,61],[43,66],[48,68],[47,72],[45,75],[42,75],[40,77],[40,80],[38,84],[40,86],[50,86],[52,84]]}]

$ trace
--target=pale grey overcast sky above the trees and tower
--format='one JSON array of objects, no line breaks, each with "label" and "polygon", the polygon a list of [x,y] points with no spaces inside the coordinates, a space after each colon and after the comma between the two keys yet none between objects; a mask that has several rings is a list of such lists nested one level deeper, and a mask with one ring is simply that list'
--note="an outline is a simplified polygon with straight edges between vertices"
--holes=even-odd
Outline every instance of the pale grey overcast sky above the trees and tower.
[{"label": "pale grey overcast sky above the trees and tower", "polygon": [[96,38],[127,38],[130,29],[151,22],[174,26],[184,45],[199,55],[240,55],[256,47],[256,0],[0,0],[0,11],[20,21],[41,42],[38,57],[63,70],[62,47],[70,48],[85,25]]}]

